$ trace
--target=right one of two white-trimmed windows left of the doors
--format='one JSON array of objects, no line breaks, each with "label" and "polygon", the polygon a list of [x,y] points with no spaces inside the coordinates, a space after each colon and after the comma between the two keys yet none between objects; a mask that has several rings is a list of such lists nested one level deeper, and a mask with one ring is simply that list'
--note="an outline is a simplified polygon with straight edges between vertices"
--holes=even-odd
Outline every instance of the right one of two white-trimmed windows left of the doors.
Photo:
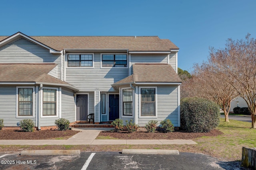
[{"label": "right one of two white-trimmed windows left of the doors", "polygon": [[43,116],[57,115],[57,90],[43,89]]}]

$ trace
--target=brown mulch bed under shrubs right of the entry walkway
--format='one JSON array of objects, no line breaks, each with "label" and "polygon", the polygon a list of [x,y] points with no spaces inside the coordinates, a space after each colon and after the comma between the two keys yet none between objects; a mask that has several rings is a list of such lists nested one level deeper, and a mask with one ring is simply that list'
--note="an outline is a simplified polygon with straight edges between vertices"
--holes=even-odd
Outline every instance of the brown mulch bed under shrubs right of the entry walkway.
[{"label": "brown mulch bed under shrubs right of the entry walkway", "polygon": [[208,133],[188,133],[185,131],[174,131],[172,133],[163,133],[156,131],[155,133],[148,133],[145,131],[136,131],[133,133],[128,133],[128,131],[101,131],[98,137],[105,136],[118,139],[195,139],[202,136],[218,136],[223,133],[219,130],[212,130]]}]

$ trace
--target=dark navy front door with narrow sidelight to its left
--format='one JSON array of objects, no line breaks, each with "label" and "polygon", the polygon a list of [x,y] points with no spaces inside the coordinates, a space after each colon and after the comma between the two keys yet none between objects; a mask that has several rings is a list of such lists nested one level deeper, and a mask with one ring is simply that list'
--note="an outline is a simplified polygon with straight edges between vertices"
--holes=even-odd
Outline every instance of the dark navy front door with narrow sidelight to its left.
[{"label": "dark navy front door with narrow sidelight to its left", "polygon": [[119,118],[119,94],[109,94],[109,120]]}]

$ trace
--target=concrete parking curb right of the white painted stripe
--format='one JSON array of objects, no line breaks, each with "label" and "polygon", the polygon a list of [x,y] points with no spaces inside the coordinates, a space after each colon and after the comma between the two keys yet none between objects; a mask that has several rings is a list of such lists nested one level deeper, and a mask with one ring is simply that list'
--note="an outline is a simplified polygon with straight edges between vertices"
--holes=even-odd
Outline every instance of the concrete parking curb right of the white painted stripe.
[{"label": "concrete parking curb right of the white painted stripe", "polygon": [[123,149],[122,154],[180,154],[178,150]]}]

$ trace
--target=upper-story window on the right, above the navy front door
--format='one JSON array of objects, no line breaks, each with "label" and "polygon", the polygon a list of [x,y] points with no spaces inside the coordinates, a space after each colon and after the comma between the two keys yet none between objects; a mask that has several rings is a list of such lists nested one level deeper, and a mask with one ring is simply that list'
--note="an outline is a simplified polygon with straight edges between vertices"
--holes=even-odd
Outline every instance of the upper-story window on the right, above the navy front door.
[{"label": "upper-story window on the right, above the navy front door", "polygon": [[127,55],[103,54],[102,67],[127,67]]}]

